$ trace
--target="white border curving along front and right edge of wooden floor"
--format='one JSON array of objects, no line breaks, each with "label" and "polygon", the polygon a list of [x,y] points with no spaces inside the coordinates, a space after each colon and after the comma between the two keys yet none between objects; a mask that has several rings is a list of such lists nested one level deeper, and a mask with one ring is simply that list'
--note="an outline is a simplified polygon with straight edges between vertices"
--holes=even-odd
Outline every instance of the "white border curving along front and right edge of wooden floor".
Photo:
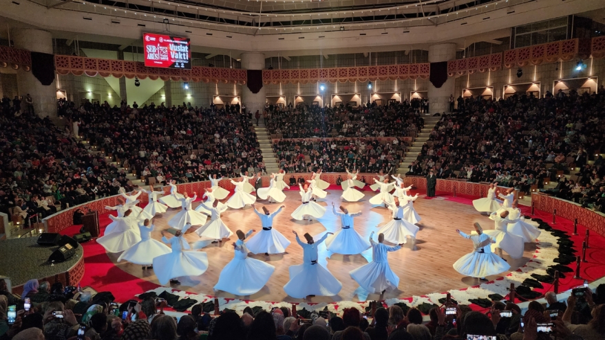
[{"label": "white border curving along front and right edge of wooden floor", "polygon": [[[532,220],[526,219],[525,222],[531,223],[533,225],[538,225],[538,223],[533,222]],[[548,275],[546,273],[546,269],[549,266],[558,264],[553,260],[559,256],[559,245],[557,244],[558,238],[553,236],[550,231],[546,231],[544,229],[541,230],[542,233],[538,238],[538,241],[535,243],[536,251],[534,253],[533,258],[527,262],[523,267],[517,269],[509,273],[505,277],[499,277],[497,280],[493,282],[487,282],[484,284],[480,284],[478,287],[472,286],[469,288],[463,289],[455,289],[452,291],[447,291],[446,293],[450,293],[452,295],[452,299],[455,299],[458,304],[471,304],[469,299],[479,299],[479,298],[487,298],[487,295],[490,294],[500,294],[503,297],[509,293],[509,288],[511,284],[515,284],[515,286],[520,286],[520,284],[528,278],[532,278],[531,274],[539,274],[539,275]],[[544,286],[547,288],[547,286]],[[157,295],[160,293],[167,291],[168,293],[172,293],[174,295],[178,295],[181,298],[189,297],[190,299],[195,299],[199,303],[202,302],[212,302],[215,297],[211,295],[204,294],[195,294],[188,293],[186,291],[178,291],[173,288],[167,287],[158,287],[151,291],[147,291],[147,293],[155,292]],[[439,299],[445,299],[446,293],[430,293],[422,296],[412,296],[406,299],[399,298],[391,298],[385,299],[384,302],[388,306],[392,306],[394,304],[403,303],[410,307],[419,306],[423,303],[427,304],[437,304],[439,303]],[[233,299],[233,298],[225,298],[225,297],[217,297],[219,303],[219,309],[229,309],[235,310],[236,313],[242,315],[244,312],[244,308],[246,307],[262,307],[264,310],[270,310],[273,307],[288,307],[292,306],[292,302],[264,302],[264,301],[252,301],[252,300],[241,300],[241,299]],[[297,304],[297,310],[302,310],[303,308],[312,312],[327,309],[335,313],[337,315],[342,314],[342,310],[345,308],[357,308],[361,311],[361,313],[365,312],[365,308],[369,306],[368,301],[363,302],[353,302],[353,301],[341,301],[341,302],[321,302],[321,303],[295,303]],[[189,308],[191,310],[191,308]]]}]

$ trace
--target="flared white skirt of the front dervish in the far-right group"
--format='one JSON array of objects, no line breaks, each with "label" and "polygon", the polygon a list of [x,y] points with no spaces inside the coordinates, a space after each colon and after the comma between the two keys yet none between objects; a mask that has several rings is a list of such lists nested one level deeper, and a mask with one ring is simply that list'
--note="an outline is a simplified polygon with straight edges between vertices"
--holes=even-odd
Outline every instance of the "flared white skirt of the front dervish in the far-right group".
[{"label": "flared white skirt of the front dervish in the far-right group", "polygon": [[497,275],[511,269],[511,266],[495,253],[468,253],[454,262],[454,269],[470,277]]}]

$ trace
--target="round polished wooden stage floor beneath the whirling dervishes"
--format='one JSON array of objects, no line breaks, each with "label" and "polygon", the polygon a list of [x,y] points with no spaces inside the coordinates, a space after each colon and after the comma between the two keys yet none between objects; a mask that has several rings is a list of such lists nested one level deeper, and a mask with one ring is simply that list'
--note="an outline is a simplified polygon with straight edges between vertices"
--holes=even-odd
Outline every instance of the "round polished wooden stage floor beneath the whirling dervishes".
[{"label": "round polished wooden stage floor beneath the whirling dervishes", "polygon": [[[280,214],[275,217],[273,227],[279,230],[292,243],[286,249],[286,253],[265,256],[264,254],[253,255],[252,258],[266,261],[275,266],[275,272],[270,277],[266,286],[261,291],[254,295],[238,297],[243,299],[270,301],[270,302],[300,302],[301,299],[289,297],[284,292],[284,285],[288,282],[288,267],[294,264],[300,264],[302,261],[302,249],[296,243],[295,236],[291,232],[295,230],[300,236],[308,232],[312,236],[321,236],[327,231],[335,232],[339,229],[340,223],[337,216],[332,214],[332,202],[335,203],[337,209],[342,203],[340,194],[341,191],[328,190],[326,199],[319,200],[318,203],[328,207],[326,214],[319,220],[297,221],[290,217],[300,204],[300,195],[297,191],[286,191],[287,196],[284,205],[286,207]],[[382,225],[391,219],[390,210],[383,206],[372,207],[368,200],[374,192],[364,192],[365,197],[356,203],[346,203],[345,205],[350,212],[361,210],[363,214],[355,219],[355,229],[363,237],[369,237],[372,231],[378,231]],[[193,206],[197,206],[199,202],[194,202]],[[262,205],[266,205],[273,212],[279,207],[279,203],[267,203],[266,201],[257,201],[256,206],[260,210]],[[429,293],[443,293],[450,289],[460,289],[478,284],[478,280],[471,277],[463,277],[454,270],[452,264],[461,256],[469,253],[472,250],[472,242],[460,237],[456,233],[456,228],[468,233],[473,230],[473,223],[478,222],[484,229],[493,229],[493,221],[487,216],[482,216],[476,212],[472,205],[456,203],[447,199],[417,199],[414,202],[414,207],[422,220],[418,224],[420,231],[416,235],[416,247],[412,249],[410,242],[403,246],[399,251],[389,253],[389,264],[391,269],[399,276],[399,290],[387,292],[384,299],[391,297],[411,297],[412,295],[425,295]],[[154,219],[155,229],[151,237],[159,240],[161,238],[160,231],[167,229],[168,220],[180,211],[179,209],[169,209],[162,216],[157,215]],[[218,281],[220,271],[233,258],[232,243],[237,239],[235,230],[242,229],[246,232],[250,229],[255,229],[257,232],[262,229],[260,220],[254,214],[251,207],[244,209],[228,209],[222,214],[224,223],[234,232],[230,240],[223,240],[221,243],[211,244],[210,240],[202,239],[197,234],[188,233],[185,235],[187,241],[193,245],[195,242],[202,241],[206,247],[200,249],[208,254],[209,269],[198,277],[182,277],[180,278],[179,286],[173,288],[200,293],[206,295],[218,295],[221,297],[235,297],[229,293],[222,291],[214,292],[212,287]],[[194,227],[195,228],[195,227]],[[193,228],[192,228],[193,229]],[[198,243],[200,245],[200,243]],[[535,245],[526,243],[524,257],[518,260],[513,260],[504,253],[504,258],[511,264],[511,270],[514,271],[522,267],[530,258],[533,257]],[[139,265],[129,262],[117,263],[116,260],[120,253],[109,253],[109,258],[116,264],[117,267],[143,280],[148,280],[158,283],[153,270],[143,271]],[[352,280],[348,274],[353,269],[361,267],[368,263],[372,258],[372,249],[364,251],[360,255],[343,256],[336,253],[331,253],[326,250],[326,245],[321,244],[319,247],[319,263],[335,275],[343,284],[343,288],[339,295],[333,297],[312,297],[310,302],[337,302],[343,300],[358,301],[354,291],[359,287],[357,282]],[[502,275],[507,275],[508,272],[500,275],[487,277],[489,280],[494,280]],[[371,294],[368,299],[378,299],[378,294]]]}]

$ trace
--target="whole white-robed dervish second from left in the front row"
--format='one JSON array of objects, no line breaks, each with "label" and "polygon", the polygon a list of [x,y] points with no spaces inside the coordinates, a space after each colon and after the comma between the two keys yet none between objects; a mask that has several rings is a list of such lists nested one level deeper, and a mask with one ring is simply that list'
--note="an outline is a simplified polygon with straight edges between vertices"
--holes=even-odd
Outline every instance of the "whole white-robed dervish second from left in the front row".
[{"label": "whole white-robed dervish second from left in the front row", "polygon": [[248,258],[248,248],[244,240],[253,232],[254,230],[251,230],[244,235],[243,231],[236,231],[237,241],[233,243],[235,256],[220,272],[214,291],[225,291],[233,295],[252,295],[260,291],[268,282],[275,267],[261,260]]}]

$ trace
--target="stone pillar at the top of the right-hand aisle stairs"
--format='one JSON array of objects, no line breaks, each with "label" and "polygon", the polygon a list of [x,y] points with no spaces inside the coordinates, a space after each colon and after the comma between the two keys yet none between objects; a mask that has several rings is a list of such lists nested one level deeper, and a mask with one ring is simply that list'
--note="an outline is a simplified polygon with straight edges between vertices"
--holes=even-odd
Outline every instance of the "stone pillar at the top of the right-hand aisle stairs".
[{"label": "stone pillar at the top of the right-hand aisle stairs", "polygon": [[[444,43],[429,46],[429,63],[449,61],[456,58],[456,44]],[[454,77],[447,77],[447,81],[440,88],[428,84],[429,111],[430,113],[449,112],[449,95],[454,93]],[[456,98],[456,95],[454,95]]]}]

